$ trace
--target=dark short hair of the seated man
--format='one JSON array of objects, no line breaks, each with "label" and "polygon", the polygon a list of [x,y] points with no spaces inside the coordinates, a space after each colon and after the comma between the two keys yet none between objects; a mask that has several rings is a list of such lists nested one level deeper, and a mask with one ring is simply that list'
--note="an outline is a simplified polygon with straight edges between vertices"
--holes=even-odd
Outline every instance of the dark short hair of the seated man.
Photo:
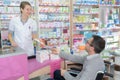
[{"label": "dark short hair of the seated man", "polygon": [[92,37],[91,46],[94,47],[96,53],[100,53],[105,48],[105,40],[98,35],[93,35]]}]

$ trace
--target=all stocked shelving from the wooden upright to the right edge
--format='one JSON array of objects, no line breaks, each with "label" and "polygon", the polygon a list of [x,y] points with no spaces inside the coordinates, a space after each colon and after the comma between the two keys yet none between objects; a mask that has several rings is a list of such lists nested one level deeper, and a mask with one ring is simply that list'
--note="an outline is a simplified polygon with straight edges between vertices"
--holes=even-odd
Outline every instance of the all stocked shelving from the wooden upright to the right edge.
[{"label": "all stocked shelving from the wooden upright to the right edge", "polygon": [[[71,48],[84,50],[86,39],[97,34],[107,41],[106,49],[120,48],[120,4],[101,0],[71,0]],[[117,36],[115,36],[117,34]],[[112,42],[109,40],[113,38]],[[117,40],[115,40],[117,39]]]}]

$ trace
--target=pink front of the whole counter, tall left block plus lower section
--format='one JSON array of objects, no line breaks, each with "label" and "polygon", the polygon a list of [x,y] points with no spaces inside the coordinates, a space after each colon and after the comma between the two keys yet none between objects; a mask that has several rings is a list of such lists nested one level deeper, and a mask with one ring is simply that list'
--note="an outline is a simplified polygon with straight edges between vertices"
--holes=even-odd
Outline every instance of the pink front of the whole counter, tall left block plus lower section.
[{"label": "pink front of the whole counter, tall left block plus lower section", "polygon": [[53,71],[60,68],[60,62],[61,60],[47,60],[43,63],[37,62],[36,59],[27,60],[26,54],[0,58],[0,80],[17,80],[21,76],[24,76],[23,80],[29,80],[41,75],[38,70],[44,74],[46,66],[49,66],[47,71],[52,76]]}]

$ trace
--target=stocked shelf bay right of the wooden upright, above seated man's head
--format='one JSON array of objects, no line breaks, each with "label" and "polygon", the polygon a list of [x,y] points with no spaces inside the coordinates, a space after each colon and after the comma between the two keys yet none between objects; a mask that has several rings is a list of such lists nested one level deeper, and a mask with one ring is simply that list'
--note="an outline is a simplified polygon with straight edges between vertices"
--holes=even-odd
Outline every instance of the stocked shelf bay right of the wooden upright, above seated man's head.
[{"label": "stocked shelf bay right of the wooden upright, above seated man's head", "polygon": [[88,32],[96,33],[99,30],[99,2],[97,0],[73,0],[72,45],[74,51],[84,49],[85,38]]}]

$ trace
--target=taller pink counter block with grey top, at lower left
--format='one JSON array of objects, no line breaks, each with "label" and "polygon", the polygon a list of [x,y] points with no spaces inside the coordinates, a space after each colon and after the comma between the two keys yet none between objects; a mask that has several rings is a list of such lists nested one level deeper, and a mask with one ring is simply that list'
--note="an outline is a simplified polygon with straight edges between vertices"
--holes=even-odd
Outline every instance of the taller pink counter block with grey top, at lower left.
[{"label": "taller pink counter block with grey top, at lower left", "polygon": [[0,52],[0,80],[28,80],[27,54],[22,49]]}]

